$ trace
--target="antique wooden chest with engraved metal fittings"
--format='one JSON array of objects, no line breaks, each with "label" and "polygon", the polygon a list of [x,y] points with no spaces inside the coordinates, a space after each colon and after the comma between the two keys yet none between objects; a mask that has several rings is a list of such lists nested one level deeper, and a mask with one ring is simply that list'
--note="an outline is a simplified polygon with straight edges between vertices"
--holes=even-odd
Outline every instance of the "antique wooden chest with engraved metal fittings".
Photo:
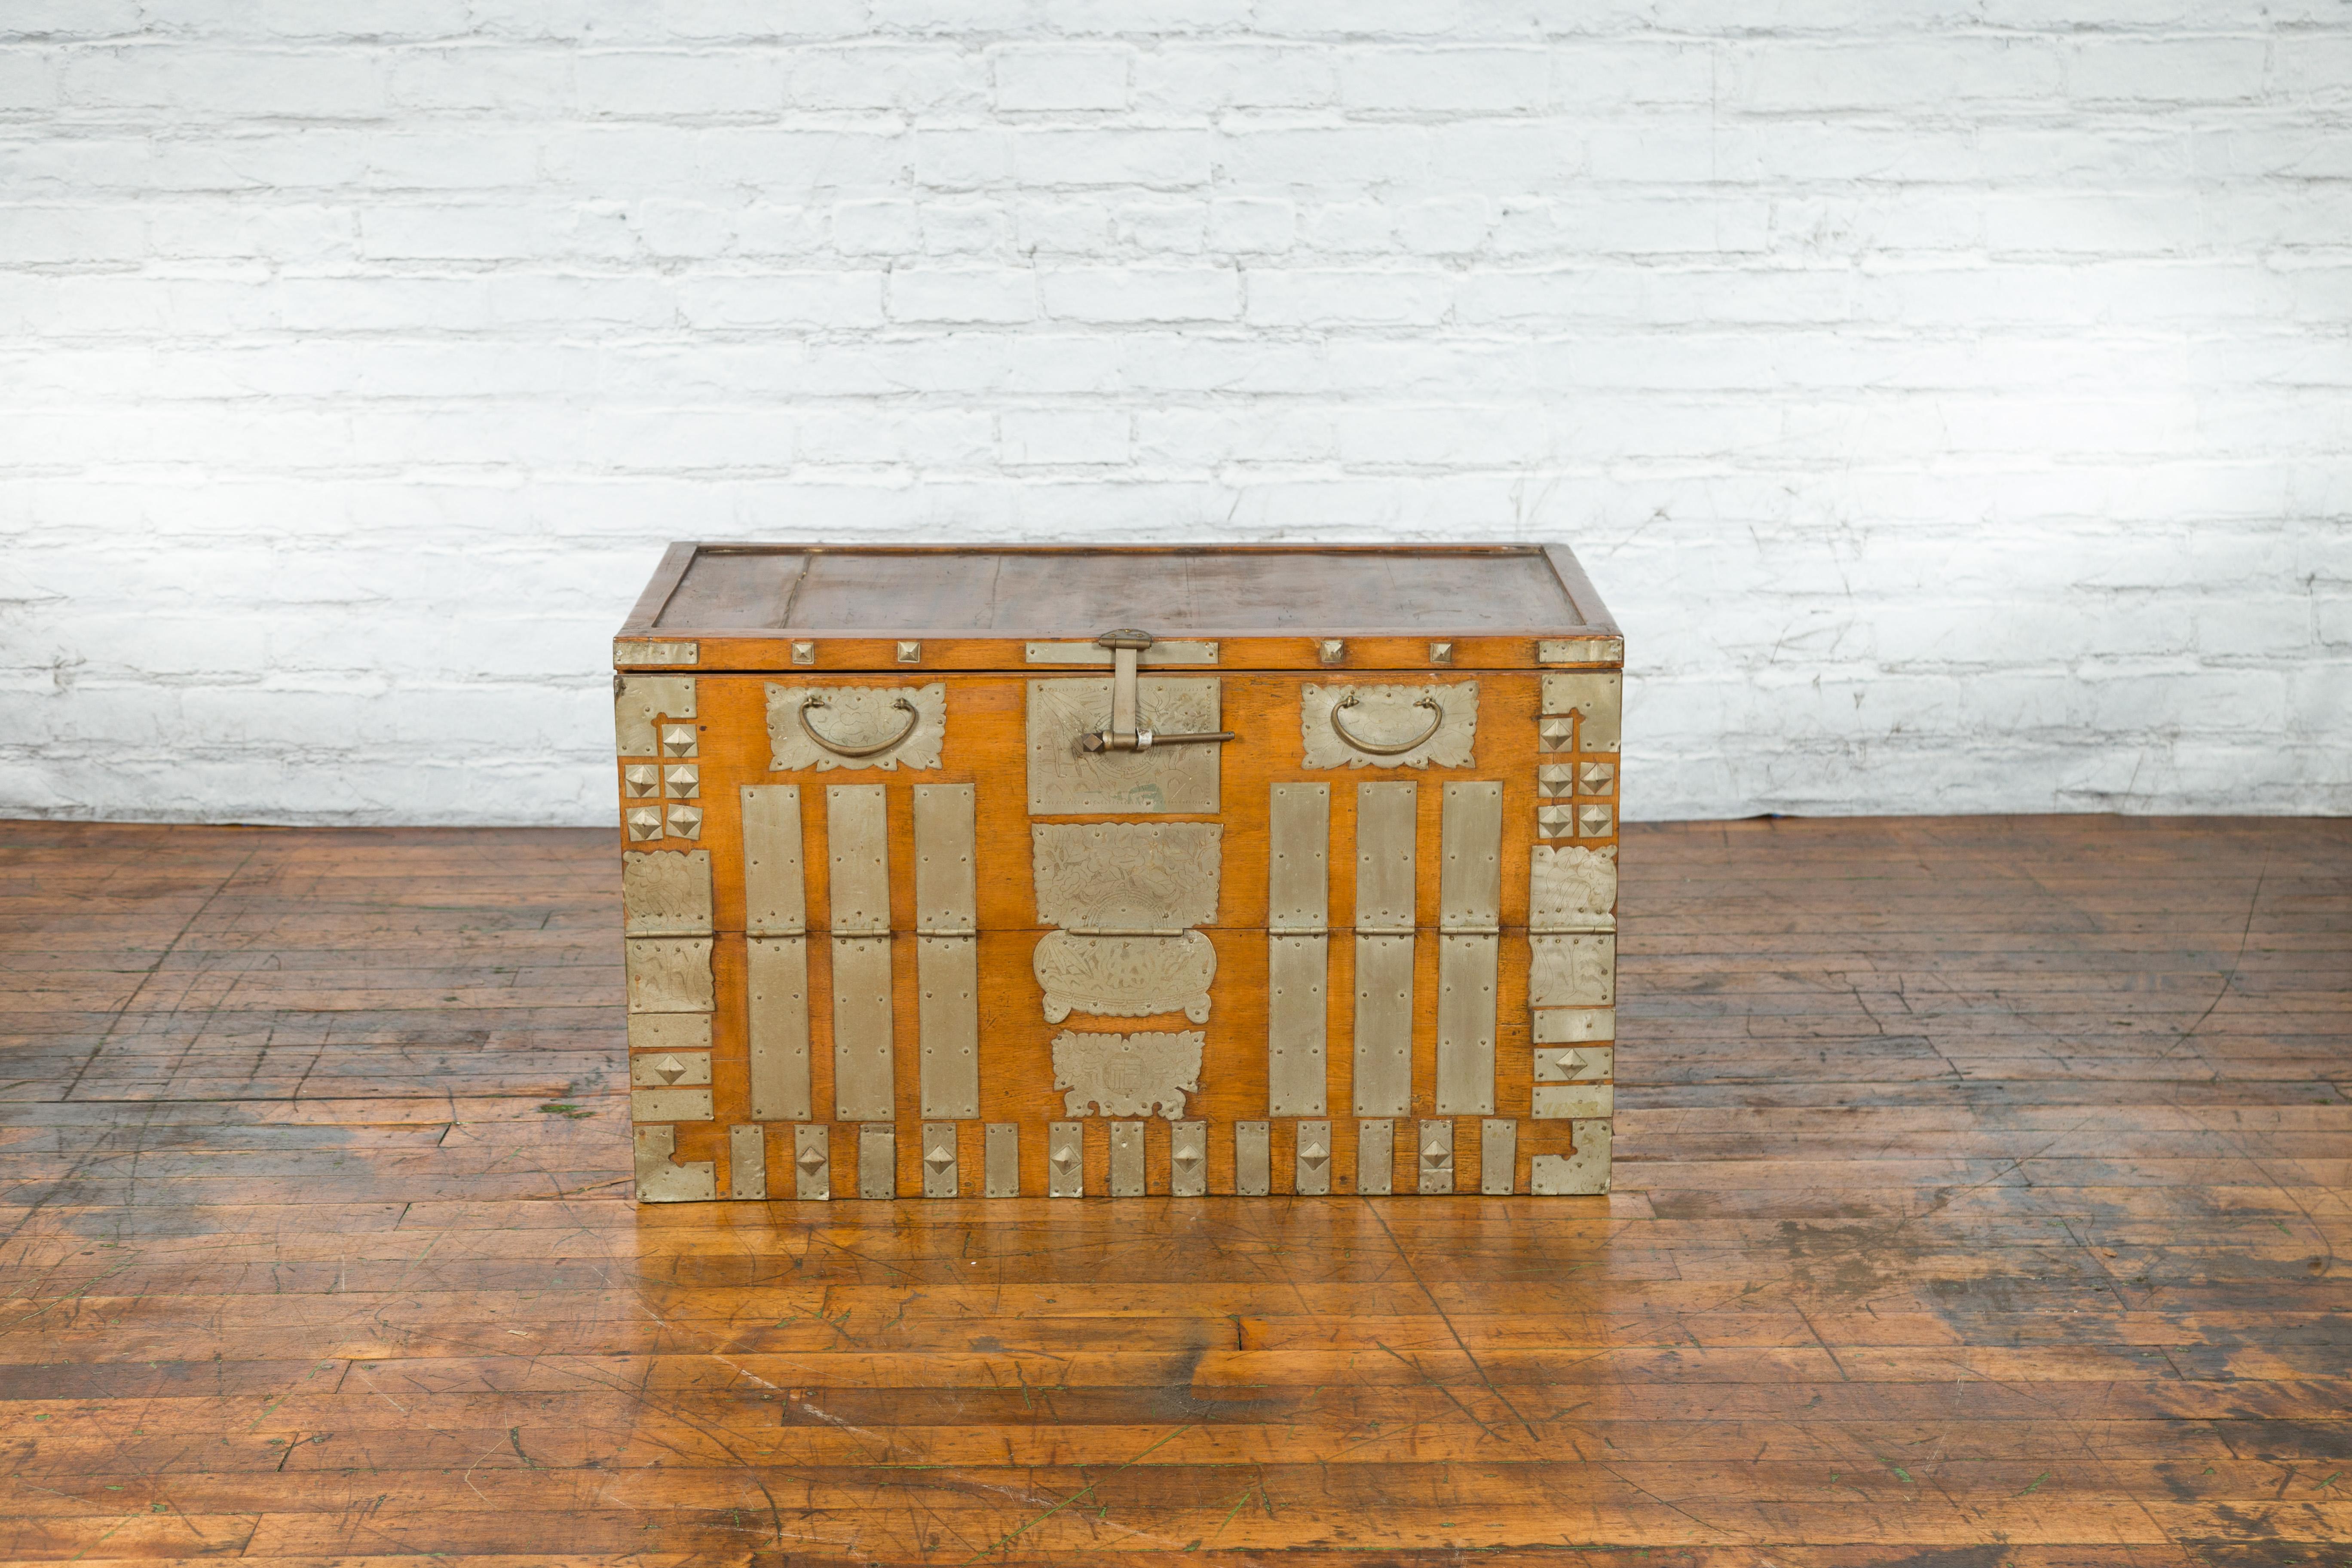
[{"label": "antique wooden chest with engraved metal fittings", "polygon": [[1606,1192],[1623,661],[1559,548],[673,545],[637,1197]]}]

